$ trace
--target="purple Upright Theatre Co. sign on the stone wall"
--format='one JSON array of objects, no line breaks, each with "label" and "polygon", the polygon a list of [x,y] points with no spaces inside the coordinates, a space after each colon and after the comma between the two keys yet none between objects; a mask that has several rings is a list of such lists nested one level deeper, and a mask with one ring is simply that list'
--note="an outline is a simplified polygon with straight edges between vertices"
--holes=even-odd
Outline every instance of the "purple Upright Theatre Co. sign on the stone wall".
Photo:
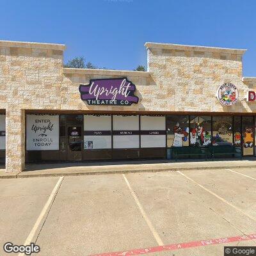
[{"label": "purple Upright Theatre Co. sign on the stone wall", "polygon": [[81,99],[88,105],[116,105],[131,106],[138,103],[139,98],[134,95],[135,84],[127,79],[91,79],[87,85],[80,84]]}]

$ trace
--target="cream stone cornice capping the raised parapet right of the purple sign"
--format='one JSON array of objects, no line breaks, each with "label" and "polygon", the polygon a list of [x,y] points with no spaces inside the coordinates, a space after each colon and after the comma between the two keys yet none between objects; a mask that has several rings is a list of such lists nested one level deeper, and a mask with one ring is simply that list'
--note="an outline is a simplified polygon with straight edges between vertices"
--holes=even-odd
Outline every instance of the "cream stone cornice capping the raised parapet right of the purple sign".
[{"label": "cream stone cornice capping the raised parapet right of the purple sign", "polygon": [[209,47],[200,45],[182,45],[182,44],[161,44],[161,43],[151,43],[147,42],[145,45],[147,48],[154,49],[170,49],[179,51],[201,51],[201,52],[222,52],[222,53],[232,53],[243,55],[247,49],[231,49],[231,48],[221,48],[221,47]]}]

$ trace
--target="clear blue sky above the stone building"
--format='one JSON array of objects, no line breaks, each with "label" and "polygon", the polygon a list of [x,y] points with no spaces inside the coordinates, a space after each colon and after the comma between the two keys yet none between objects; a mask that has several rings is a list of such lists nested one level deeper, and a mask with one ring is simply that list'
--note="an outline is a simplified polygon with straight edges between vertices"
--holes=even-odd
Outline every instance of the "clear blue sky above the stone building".
[{"label": "clear blue sky above the stone building", "polygon": [[145,42],[248,49],[256,77],[255,0],[0,0],[0,40],[65,44],[64,60],[147,67]]}]

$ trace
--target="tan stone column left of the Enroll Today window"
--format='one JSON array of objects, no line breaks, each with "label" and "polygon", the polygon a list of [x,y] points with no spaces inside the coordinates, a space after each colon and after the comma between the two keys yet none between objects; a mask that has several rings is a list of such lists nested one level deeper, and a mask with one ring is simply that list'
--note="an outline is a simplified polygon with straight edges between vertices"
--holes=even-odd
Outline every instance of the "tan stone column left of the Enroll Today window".
[{"label": "tan stone column left of the Enroll Today window", "polygon": [[25,129],[24,109],[6,109],[6,172],[25,168]]}]

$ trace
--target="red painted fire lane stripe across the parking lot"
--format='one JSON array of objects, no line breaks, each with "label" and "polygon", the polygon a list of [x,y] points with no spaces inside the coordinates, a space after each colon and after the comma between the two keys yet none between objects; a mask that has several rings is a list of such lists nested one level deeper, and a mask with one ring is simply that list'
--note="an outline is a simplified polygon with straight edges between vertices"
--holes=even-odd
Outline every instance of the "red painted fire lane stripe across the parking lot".
[{"label": "red painted fire lane stripe across the parking lot", "polygon": [[214,238],[214,239],[207,239],[207,240],[201,240],[201,241],[191,241],[188,243],[168,244],[163,246],[127,250],[123,252],[99,253],[99,254],[93,254],[90,256],[132,256],[132,255],[141,255],[141,254],[147,254],[147,253],[153,253],[153,252],[174,251],[174,250],[180,250],[180,249],[186,249],[186,248],[209,246],[214,244],[234,243],[237,241],[246,241],[246,240],[253,240],[253,239],[256,239],[256,234]]}]

